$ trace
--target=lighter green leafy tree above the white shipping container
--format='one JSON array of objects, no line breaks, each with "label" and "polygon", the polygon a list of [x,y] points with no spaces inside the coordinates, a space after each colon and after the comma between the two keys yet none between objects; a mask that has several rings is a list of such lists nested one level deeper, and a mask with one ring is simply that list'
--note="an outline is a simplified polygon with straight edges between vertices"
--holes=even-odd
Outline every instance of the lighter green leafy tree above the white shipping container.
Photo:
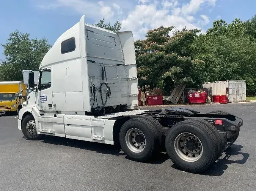
[{"label": "lighter green leafy tree above the white shipping container", "polygon": [[198,72],[204,82],[246,80],[247,89],[256,90],[256,39],[247,24],[239,18],[229,25],[216,20],[193,42],[192,57],[204,61]]}]

